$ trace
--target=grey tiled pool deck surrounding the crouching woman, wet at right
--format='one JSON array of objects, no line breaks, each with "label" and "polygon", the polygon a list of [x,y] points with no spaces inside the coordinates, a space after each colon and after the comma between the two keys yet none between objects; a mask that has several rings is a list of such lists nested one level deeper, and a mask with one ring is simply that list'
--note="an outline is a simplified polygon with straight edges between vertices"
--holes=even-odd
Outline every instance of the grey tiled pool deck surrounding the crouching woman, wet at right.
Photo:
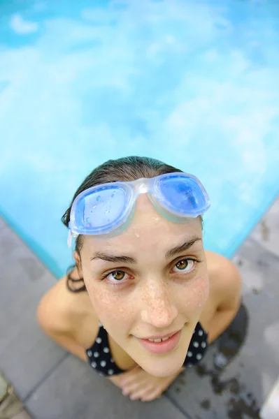
[{"label": "grey tiled pool deck surrounding the crouching woman, wet at right", "polygon": [[[123,397],[41,332],[36,307],[56,279],[0,219],[0,371],[31,418],[259,418],[279,375],[278,214],[279,200],[234,257],[243,276],[243,311],[231,334],[209,349],[201,367],[188,369],[161,399],[145,404]],[[22,405],[22,416],[7,416],[1,406],[1,419],[28,418]]]}]

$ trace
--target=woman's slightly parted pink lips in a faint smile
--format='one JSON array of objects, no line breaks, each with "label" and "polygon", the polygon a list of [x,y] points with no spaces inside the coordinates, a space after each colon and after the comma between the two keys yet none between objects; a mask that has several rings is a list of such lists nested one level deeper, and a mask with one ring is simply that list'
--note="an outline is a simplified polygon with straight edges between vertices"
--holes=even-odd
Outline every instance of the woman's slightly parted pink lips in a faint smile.
[{"label": "woman's slightly parted pink lips in a faint smile", "polygon": [[172,335],[164,337],[149,337],[145,339],[137,338],[141,346],[151,353],[168,353],[173,351],[180,340],[181,331],[174,332]]}]

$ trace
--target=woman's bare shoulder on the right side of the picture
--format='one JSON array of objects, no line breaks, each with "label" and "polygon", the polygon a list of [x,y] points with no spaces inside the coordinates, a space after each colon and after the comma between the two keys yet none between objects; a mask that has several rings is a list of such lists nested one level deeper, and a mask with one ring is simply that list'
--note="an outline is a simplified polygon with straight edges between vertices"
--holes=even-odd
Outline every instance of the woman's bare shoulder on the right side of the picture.
[{"label": "woman's bare shoulder on the right side of the picture", "polygon": [[210,293],[216,307],[231,309],[241,301],[241,274],[238,267],[229,259],[206,251],[206,263],[210,279]]}]

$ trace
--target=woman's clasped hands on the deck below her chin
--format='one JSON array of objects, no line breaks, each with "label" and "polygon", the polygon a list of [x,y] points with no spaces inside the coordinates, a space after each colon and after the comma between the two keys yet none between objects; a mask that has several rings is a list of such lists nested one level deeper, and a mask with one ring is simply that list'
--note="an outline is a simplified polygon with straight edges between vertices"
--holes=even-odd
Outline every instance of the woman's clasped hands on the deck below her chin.
[{"label": "woman's clasped hands on the deck below her chin", "polygon": [[124,396],[129,395],[131,400],[141,399],[142,402],[151,402],[154,399],[159,399],[183,369],[171,376],[155,377],[148,374],[141,367],[136,367],[122,378],[120,382],[122,394]]}]

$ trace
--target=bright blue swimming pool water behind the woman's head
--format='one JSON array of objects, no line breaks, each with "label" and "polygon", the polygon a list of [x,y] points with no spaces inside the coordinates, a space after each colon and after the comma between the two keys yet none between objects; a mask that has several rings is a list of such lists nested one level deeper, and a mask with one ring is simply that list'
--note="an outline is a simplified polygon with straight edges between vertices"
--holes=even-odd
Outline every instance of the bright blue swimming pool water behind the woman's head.
[{"label": "bright blue swimming pool water behind the woman's head", "polygon": [[58,276],[60,218],[107,159],[206,186],[206,248],[231,257],[279,191],[276,0],[0,3],[0,214]]}]

